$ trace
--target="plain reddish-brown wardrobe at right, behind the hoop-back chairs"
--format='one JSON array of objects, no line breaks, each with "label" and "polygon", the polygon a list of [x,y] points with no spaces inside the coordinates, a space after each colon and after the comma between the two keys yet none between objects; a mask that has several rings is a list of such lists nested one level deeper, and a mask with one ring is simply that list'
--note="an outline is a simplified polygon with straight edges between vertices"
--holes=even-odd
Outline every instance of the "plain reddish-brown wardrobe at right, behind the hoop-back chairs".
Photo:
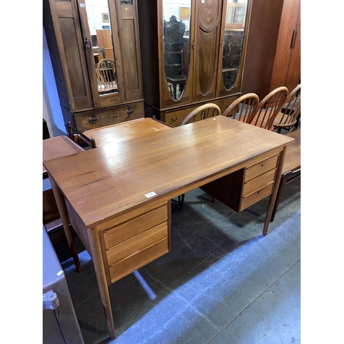
[{"label": "plain reddish-brown wardrobe at right, behind the hoop-back chairs", "polygon": [[299,80],[300,0],[253,1],[242,92],[254,92],[262,99],[279,86],[291,91]]}]

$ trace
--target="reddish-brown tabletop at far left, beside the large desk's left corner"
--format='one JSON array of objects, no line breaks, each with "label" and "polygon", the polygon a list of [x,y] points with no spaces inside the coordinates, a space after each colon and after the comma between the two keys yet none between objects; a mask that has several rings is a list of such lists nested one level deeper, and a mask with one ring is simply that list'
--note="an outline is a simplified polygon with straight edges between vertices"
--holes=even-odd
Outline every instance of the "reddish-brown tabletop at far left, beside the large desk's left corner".
[{"label": "reddish-brown tabletop at far left, beside the large desk's left corner", "polygon": [[[83,151],[83,149],[67,136],[56,136],[43,140],[43,162],[75,154],[80,151]],[[46,172],[47,170],[43,166],[43,173]]]}]

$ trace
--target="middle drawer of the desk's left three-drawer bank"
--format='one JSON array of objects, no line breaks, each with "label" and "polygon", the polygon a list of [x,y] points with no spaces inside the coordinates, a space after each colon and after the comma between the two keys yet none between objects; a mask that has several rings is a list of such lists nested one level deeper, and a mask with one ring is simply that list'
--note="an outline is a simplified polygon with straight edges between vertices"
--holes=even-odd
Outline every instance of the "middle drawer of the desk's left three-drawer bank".
[{"label": "middle drawer of the desk's left three-drawer bank", "polygon": [[107,263],[109,266],[114,266],[114,264],[118,263],[122,259],[130,257],[131,255],[144,250],[144,248],[166,238],[168,234],[167,222],[146,230],[140,235],[123,241],[121,244],[107,250]]}]

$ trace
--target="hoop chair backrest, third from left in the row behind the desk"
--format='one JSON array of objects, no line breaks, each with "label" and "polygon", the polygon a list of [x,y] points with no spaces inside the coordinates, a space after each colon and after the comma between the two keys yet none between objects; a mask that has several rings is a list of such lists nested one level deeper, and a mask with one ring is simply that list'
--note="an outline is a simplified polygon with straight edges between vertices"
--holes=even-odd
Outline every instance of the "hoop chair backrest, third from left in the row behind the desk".
[{"label": "hoop chair backrest, third from left in the row behind the desk", "polygon": [[261,127],[263,129],[273,130],[273,122],[281,111],[283,104],[288,96],[288,88],[281,86],[271,91],[258,104],[257,111],[248,118],[250,125]]}]

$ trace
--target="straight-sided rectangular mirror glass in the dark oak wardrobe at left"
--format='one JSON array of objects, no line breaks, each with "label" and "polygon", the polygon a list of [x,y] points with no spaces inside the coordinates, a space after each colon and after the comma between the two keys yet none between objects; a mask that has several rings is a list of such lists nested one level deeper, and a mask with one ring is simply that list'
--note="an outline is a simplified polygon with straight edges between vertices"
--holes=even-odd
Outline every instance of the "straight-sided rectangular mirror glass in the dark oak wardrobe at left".
[{"label": "straight-sided rectangular mirror glass in the dark oak wardrobe at left", "polygon": [[[89,25],[90,49],[100,96],[118,92],[114,47],[112,46],[111,20],[107,0],[85,0]],[[87,44],[87,42],[84,42]]]}]

